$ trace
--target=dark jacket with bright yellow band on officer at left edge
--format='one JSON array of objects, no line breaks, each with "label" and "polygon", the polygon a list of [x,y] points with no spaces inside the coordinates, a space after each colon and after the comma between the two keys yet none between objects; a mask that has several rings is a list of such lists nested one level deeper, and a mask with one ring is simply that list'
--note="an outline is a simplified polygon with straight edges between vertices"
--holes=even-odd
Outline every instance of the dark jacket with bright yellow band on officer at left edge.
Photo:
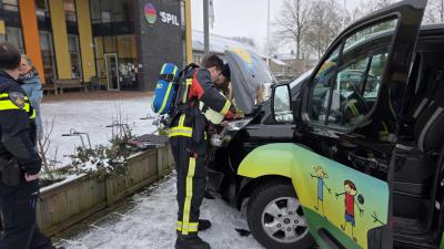
[{"label": "dark jacket with bright yellow band on officer at left edge", "polygon": [[23,90],[0,70],[0,159],[14,160],[26,173],[38,174],[41,158],[36,149],[36,112]]}]

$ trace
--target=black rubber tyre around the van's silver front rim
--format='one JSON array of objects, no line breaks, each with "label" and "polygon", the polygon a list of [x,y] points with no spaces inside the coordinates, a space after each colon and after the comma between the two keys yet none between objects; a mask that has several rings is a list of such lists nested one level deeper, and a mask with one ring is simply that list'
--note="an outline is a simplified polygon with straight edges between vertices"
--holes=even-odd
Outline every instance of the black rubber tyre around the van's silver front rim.
[{"label": "black rubber tyre around the van's silver front rim", "polygon": [[266,249],[307,249],[312,248],[314,240],[306,228],[306,232],[293,242],[280,242],[269,236],[263,229],[265,208],[280,198],[295,198],[296,194],[292,185],[283,181],[266,183],[256,188],[250,197],[246,210],[246,219],[254,238]]}]

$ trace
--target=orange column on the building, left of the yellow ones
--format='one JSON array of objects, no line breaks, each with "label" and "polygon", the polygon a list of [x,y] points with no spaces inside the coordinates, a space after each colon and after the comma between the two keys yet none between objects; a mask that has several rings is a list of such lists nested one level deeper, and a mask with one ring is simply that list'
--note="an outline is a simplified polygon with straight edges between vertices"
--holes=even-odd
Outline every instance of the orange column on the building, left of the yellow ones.
[{"label": "orange column on the building, left of the yellow ones", "polygon": [[24,51],[39,71],[41,81],[44,84],[43,61],[40,52],[39,27],[37,24],[36,2],[20,0],[20,17],[23,28]]}]

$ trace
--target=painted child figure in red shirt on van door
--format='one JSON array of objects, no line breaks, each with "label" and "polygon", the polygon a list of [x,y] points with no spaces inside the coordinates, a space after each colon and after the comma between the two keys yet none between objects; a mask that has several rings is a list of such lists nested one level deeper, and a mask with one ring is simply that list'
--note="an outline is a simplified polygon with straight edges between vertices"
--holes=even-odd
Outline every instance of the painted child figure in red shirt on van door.
[{"label": "painted child figure in red shirt on van door", "polygon": [[345,188],[344,193],[335,194],[336,198],[341,195],[345,195],[345,222],[344,225],[341,225],[341,228],[342,230],[345,231],[347,224],[350,224],[352,227],[353,240],[357,241],[356,237],[354,237],[353,234],[353,229],[356,227],[354,206],[356,205],[357,209],[360,210],[360,215],[362,217],[364,215],[364,209],[360,206],[360,204],[361,205],[364,204],[364,197],[362,195],[359,195],[356,201],[355,199],[357,195],[356,185],[349,179],[344,181],[344,188]]}]

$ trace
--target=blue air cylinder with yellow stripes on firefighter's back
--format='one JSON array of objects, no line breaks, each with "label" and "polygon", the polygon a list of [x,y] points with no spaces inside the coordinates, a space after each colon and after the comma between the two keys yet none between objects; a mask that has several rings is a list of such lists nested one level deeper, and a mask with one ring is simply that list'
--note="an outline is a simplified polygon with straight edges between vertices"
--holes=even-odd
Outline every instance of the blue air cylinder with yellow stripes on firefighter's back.
[{"label": "blue air cylinder with yellow stripes on firefighter's back", "polygon": [[179,69],[173,63],[165,63],[160,71],[159,81],[155,84],[154,97],[151,108],[158,114],[168,114],[174,104],[174,93],[176,91],[176,79]]}]

